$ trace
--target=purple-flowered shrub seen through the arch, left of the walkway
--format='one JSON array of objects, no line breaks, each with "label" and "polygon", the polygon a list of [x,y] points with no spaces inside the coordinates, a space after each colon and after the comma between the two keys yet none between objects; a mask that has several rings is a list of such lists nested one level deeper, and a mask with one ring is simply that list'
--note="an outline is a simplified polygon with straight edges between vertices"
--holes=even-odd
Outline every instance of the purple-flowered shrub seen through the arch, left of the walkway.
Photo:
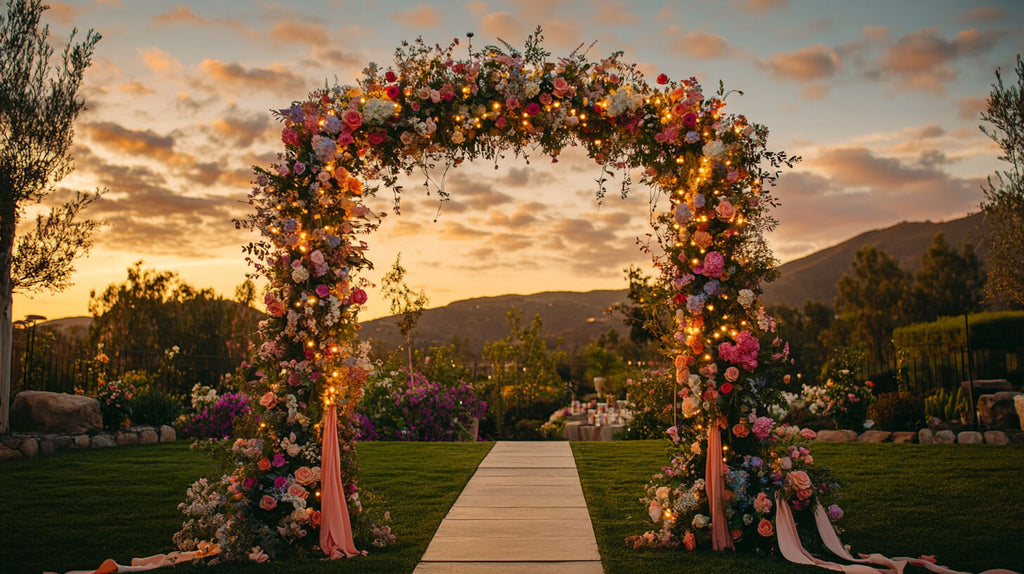
[{"label": "purple-flowered shrub seen through the arch, left of the walkway", "polygon": [[[392,373],[392,377],[397,373]],[[360,435],[366,439],[452,441],[471,438],[473,421],[487,405],[463,381],[447,387],[431,383],[419,372],[404,385],[390,377],[368,385],[359,409]]]}]

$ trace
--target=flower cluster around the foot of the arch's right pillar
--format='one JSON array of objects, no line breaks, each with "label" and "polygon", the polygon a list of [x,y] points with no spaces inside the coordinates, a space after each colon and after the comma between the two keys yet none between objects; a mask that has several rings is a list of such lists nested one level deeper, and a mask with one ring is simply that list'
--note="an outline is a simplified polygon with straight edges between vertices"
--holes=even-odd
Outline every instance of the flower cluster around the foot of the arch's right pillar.
[{"label": "flower cluster around the foot of the arch's right pillar", "polygon": [[[809,441],[815,437],[814,431],[760,416],[740,420],[731,433],[730,450],[750,453],[730,459],[725,473],[725,517],[737,546],[767,549],[773,545],[776,494],[795,513],[809,512],[820,501],[834,521],[842,517],[835,503],[838,481],[811,456]],[[669,436],[675,454],[648,483],[641,498],[651,521],[660,528],[628,538],[627,544],[634,548],[682,546],[692,550],[711,538],[711,512],[702,478],[707,440],[701,440],[699,433],[676,427],[669,429]]]}]

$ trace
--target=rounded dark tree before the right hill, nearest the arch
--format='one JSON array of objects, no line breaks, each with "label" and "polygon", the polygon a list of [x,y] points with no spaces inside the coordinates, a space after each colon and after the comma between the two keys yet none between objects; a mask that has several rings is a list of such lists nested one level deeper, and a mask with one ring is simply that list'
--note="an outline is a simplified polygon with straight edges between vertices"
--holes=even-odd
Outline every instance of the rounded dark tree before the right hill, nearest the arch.
[{"label": "rounded dark tree before the right hill, nearest the arch", "polygon": [[864,246],[854,255],[850,270],[839,280],[836,310],[853,335],[884,361],[893,328],[906,317],[910,280],[889,254]]}]

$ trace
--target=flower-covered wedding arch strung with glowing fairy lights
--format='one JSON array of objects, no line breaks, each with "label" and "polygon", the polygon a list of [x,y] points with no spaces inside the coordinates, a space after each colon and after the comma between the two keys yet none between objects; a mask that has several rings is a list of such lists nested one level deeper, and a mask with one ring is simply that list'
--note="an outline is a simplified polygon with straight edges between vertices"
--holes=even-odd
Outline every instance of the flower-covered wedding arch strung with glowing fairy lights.
[{"label": "flower-covered wedding arch strung with glowing fairy lights", "polygon": [[[777,400],[785,349],[759,285],[774,268],[763,241],[773,224],[769,188],[791,160],[766,149],[766,128],[725,113],[721,88],[708,96],[695,79],[666,75],[648,85],[621,53],[551,59],[541,40],[538,31],[523,51],[470,46],[465,59],[456,58],[458,40],[403,43],[393,68],[371,64],[357,86],[322,89],[278,113],[285,149],[269,169],[256,169],[254,213],[240,223],[261,233],[248,259],[269,282],[269,318],[246,389],[258,406],[237,428],[226,474],[197,483],[183,505],[188,522],[176,537],[183,549],[213,537],[226,558],[245,559],[253,546],[276,554],[315,544],[317,422],[327,399],[348,401],[339,428],[356,542],[393,539],[368,518],[374,509],[362,512],[348,415],[372,368],[356,339],[368,299],[359,273],[371,267],[364,237],[384,215],[364,198],[388,188],[397,208],[399,176],[417,169],[506,153],[557,161],[566,146],[580,146],[602,174],[599,197],[616,172],[623,193],[635,178],[669,197],[671,209],[652,221],[660,249],[651,252],[672,284],[673,297],[662,302],[675,313],[666,343],[687,416],[672,431],[678,452],[662,477],[676,481],[673,496],[692,494],[698,480],[701,429],[750,427]],[[761,452],[741,432],[726,431],[725,442],[737,445],[730,465]],[[652,500],[672,520],[652,515],[663,531],[648,541],[673,545],[689,527],[677,527],[667,496],[658,490]]]}]

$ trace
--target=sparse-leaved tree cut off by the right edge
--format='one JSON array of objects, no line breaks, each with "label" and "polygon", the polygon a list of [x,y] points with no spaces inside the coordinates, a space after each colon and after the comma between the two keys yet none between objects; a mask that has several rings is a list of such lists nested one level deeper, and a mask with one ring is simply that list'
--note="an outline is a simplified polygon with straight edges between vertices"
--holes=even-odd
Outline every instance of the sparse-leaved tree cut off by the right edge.
[{"label": "sparse-leaved tree cut off by the right edge", "polygon": [[995,70],[995,84],[981,119],[989,124],[987,129],[979,126],[981,131],[999,145],[999,160],[1010,164],[1010,169],[995,173],[996,181],[989,177],[983,188],[981,209],[989,224],[983,241],[990,254],[985,295],[1024,307],[1024,61],[1020,54],[1016,85],[1005,86]]}]

